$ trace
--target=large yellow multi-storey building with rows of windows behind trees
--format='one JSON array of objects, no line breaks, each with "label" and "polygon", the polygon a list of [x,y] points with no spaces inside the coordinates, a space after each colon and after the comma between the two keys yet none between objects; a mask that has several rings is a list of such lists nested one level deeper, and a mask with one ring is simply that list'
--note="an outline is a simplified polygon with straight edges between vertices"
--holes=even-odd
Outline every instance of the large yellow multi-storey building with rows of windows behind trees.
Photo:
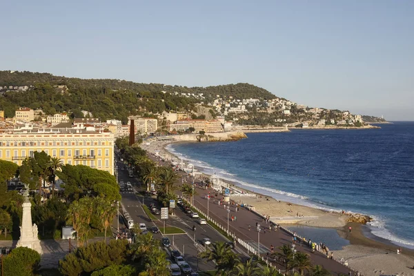
[{"label": "large yellow multi-storey building with rows of windows behind trees", "polygon": [[114,174],[114,135],[74,128],[33,128],[0,133],[0,159],[17,165],[44,150],[63,164],[85,165]]}]

